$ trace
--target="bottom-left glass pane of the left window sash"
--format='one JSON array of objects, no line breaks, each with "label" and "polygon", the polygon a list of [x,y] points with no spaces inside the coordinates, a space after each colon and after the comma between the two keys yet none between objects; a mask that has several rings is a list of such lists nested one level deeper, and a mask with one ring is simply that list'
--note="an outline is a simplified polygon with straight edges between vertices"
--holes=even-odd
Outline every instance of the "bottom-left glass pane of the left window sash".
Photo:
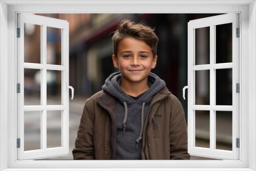
[{"label": "bottom-left glass pane of the left window sash", "polygon": [[41,148],[41,111],[24,112],[24,151]]}]

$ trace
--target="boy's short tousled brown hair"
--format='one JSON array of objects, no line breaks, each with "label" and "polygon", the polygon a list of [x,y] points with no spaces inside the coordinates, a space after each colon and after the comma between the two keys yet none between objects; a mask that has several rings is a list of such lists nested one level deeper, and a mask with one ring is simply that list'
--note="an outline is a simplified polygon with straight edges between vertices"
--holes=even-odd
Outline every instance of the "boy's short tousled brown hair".
[{"label": "boy's short tousled brown hair", "polygon": [[122,20],[112,37],[113,53],[117,57],[119,42],[125,37],[133,37],[143,40],[148,46],[150,46],[153,57],[155,57],[157,54],[158,37],[154,30],[155,29],[145,26],[142,23],[135,24],[130,19]]}]

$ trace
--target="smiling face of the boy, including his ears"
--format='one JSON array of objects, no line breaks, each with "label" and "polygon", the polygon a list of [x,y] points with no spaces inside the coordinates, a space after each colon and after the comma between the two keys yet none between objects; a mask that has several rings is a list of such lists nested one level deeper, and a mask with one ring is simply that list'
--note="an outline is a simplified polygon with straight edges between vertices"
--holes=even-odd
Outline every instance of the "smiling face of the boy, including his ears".
[{"label": "smiling face of the boy, including his ears", "polygon": [[132,37],[125,37],[119,42],[117,57],[113,54],[112,59],[122,79],[128,82],[146,81],[157,63],[157,56],[153,57],[151,47]]}]

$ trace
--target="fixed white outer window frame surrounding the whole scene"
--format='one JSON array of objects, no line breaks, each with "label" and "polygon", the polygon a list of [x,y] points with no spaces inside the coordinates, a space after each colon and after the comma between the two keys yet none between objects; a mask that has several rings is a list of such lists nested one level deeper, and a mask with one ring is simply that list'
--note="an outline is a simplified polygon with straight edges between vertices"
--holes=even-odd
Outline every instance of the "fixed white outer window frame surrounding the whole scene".
[{"label": "fixed white outer window frame surrounding the whole scene", "polygon": [[[64,4],[62,4],[64,3]],[[32,5],[34,4],[34,5]],[[70,5],[73,4],[73,5]],[[34,161],[16,160],[17,12],[31,13],[241,13],[240,160]],[[255,1],[0,1],[0,170],[256,170]],[[8,33],[8,35],[6,34]],[[248,36],[249,35],[249,36]],[[185,86],[185,85],[184,85]],[[6,98],[7,97],[7,98]],[[6,131],[8,130],[8,131]],[[242,151],[241,151],[242,149]],[[47,167],[47,168],[46,168]],[[74,168],[76,167],[76,168]],[[152,168],[153,167],[153,168]],[[26,169],[24,169],[26,168]],[[29,169],[31,168],[31,169]],[[33,168],[33,169],[32,169]],[[104,169],[105,168],[105,169]],[[113,169],[118,168],[118,169]],[[122,169],[123,168],[123,169]],[[125,169],[126,168],[126,169]],[[127,169],[128,168],[128,169]],[[143,169],[144,168],[144,169]],[[145,169],[146,168],[146,169]],[[183,169],[181,169],[183,168]]]}]

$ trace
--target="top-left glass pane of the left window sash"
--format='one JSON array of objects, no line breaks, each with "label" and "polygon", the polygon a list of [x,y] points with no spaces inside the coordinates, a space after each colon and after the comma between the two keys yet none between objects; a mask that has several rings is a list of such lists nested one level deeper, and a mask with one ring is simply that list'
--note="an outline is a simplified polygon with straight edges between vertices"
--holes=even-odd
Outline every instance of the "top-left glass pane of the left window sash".
[{"label": "top-left glass pane of the left window sash", "polygon": [[24,23],[24,62],[41,62],[41,26]]}]

